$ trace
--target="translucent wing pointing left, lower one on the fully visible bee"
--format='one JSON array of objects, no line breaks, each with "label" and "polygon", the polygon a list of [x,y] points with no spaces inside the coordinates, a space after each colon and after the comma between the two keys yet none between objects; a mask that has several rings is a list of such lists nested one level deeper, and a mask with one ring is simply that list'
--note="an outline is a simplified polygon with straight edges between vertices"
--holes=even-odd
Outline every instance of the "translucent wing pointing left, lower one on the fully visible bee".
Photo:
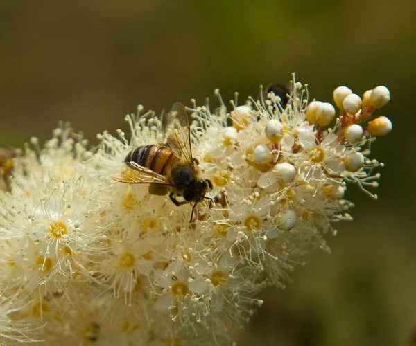
[{"label": "translucent wing pointing left, lower one on the fully visible bee", "polygon": [[171,185],[168,180],[146,167],[138,165],[134,161],[126,162],[127,169],[124,172],[112,176],[112,179],[120,183],[128,184],[146,184],[155,183],[159,185]]}]

